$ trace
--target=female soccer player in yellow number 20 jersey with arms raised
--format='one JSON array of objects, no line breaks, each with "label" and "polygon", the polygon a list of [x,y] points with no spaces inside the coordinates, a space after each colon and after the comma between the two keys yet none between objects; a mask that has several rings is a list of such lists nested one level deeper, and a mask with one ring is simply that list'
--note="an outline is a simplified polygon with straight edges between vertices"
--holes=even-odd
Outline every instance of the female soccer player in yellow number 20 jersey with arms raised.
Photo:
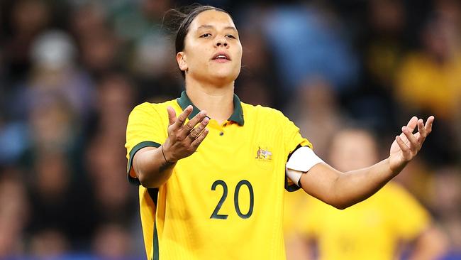
[{"label": "female soccer player in yellow number 20 jersey with arms raised", "polygon": [[426,125],[413,117],[389,158],[341,173],[281,112],[234,94],[242,45],[226,11],[192,9],[176,51],[186,91],[138,105],[127,126],[128,178],[140,184],[148,259],[284,259],[284,188],[343,209],[397,175],[431,132],[433,117]]}]

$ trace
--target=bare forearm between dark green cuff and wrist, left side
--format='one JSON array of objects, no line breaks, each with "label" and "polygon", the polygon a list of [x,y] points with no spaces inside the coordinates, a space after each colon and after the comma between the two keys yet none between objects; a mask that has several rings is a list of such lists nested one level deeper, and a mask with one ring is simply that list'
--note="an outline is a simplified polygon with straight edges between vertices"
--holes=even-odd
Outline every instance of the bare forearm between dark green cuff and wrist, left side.
[{"label": "bare forearm between dark green cuff and wrist, left side", "polygon": [[157,188],[172,175],[176,163],[167,163],[162,147],[143,148],[133,158],[133,170],[140,183],[146,188]]}]

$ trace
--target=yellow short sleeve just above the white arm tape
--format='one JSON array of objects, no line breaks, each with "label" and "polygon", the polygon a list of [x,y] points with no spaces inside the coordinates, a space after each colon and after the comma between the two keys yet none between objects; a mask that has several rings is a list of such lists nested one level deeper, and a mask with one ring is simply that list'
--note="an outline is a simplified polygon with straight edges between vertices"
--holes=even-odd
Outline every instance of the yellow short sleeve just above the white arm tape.
[{"label": "yellow short sleeve just above the white arm tape", "polygon": [[[293,153],[296,148],[301,146],[309,146],[312,147],[312,143],[301,136],[299,133],[299,127],[296,126],[292,121],[290,121],[287,117],[280,112],[280,119],[282,127],[282,135],[283,135],[283,142],[284,142],[284,154],[286,161],[288,161],[289,156]],[[294,184],[287,176],[285,176],[285,190],[292,192],[295,190],[299,190],[298,185]]]}]

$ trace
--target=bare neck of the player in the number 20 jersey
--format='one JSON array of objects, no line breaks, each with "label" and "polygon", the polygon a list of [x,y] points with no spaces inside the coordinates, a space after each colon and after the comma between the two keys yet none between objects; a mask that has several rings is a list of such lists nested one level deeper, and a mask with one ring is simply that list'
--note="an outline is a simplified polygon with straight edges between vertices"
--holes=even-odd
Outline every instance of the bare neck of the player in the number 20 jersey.
[{"label": "bare neck of the player in the number 20 jersey", "polygon": [[234,82],[216,87],[216,85],[197,82],[191,78],[186,80],[187,97],[200,110],[222,124],[233,113]]}]

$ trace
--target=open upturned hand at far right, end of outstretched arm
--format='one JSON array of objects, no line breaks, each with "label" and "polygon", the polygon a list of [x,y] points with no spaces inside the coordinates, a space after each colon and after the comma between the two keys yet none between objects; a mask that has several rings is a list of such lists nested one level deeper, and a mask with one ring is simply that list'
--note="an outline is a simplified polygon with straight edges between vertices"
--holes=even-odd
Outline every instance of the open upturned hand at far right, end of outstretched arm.
[{"label": "open upturned hand at far right, end of outstretched arm", "polygon": [[[424,140],[431,134],[434,117],[431,116],[424,124],[423,119],[412,117],[406,126],[402,126],[402,133],[396,136],[391,145],[389,167],[393,173],[399,173],[409,163],[418,151],[421,150]],[[418,126],[418,132],[413,131]]]}]

